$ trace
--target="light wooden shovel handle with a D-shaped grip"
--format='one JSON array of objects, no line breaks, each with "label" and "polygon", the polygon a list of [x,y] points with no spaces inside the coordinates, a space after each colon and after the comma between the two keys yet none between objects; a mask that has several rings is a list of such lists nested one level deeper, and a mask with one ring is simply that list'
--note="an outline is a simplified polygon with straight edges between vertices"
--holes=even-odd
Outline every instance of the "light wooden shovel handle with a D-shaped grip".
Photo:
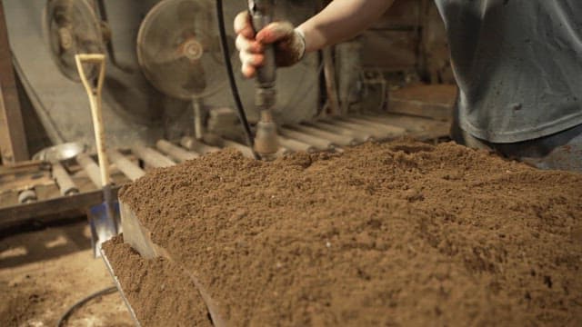
[{"label": "light wooden shovel handle with a D-shaped grip", "polygon": [[[91,116],[95,129],[95,144],[97,147],[97,157],[99,158],[99,170],[101,173],[101,183],[105,187],[111,184],[109,176],[109,161],[105,149],[105,130],[103,127],[103,114],[101,110],[101,91],[105,81],[105,54],[75,54],[76,68],[81,76],[81,82],[85,86],[89,96],[91,106]],[[84,64],[95,64],[98,69],[96,81],[89,81],[85,74]],[[91,82],[96,82],[92,84]]]}]

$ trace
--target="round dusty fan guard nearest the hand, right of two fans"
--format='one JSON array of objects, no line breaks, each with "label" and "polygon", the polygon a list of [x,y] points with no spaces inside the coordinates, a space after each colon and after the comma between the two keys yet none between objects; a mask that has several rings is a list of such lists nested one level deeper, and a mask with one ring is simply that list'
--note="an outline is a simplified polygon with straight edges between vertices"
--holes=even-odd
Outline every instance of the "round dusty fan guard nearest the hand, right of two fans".
[{"label": "round dusty fan guard nearest the hand, right of two fans", "polygon": [[137,35],[137,60],[161,92],[193,100],[216,94],[225,86],[213,4],[164,0],[144,18]]}]

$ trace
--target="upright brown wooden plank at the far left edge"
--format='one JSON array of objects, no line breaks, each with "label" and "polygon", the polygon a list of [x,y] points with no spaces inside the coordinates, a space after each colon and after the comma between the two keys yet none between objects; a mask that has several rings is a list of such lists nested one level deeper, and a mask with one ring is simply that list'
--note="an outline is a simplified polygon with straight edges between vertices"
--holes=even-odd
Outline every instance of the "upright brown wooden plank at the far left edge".
[{"label": "upright brown wooden plank at the far left edge", "polygon": [[25,125],[16,91],[4,5],[0,0],[0,154],[3,163],[28,160]]}]

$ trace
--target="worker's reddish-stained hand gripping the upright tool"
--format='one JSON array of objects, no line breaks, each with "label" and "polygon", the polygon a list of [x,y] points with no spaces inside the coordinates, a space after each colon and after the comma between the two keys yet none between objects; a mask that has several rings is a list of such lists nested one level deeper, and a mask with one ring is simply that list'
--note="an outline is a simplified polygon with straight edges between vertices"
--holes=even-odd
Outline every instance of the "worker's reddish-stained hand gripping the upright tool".
[{"label": "worker's reddish-stained hand gripping the upright tool", "polygon": [[235,33],[241,70],[247,78],[253,77],[256,68],[264,64],[265,45],[275,46],[275,60],[279,67],[296,64],[306,52],[305,36],[288,22],[271,23],[255,35],[247,11],[236,15]]}]

